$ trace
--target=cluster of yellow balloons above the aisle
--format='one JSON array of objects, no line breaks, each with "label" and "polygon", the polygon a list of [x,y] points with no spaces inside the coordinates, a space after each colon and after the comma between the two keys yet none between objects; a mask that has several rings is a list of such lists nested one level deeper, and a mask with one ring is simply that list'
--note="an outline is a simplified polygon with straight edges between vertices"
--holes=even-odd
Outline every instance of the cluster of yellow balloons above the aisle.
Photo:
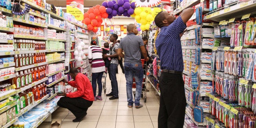
[{"label": "cluster of yellow balloons above the aisle", "polygon": [[131,16],[135,18],[137,23],[141,24],[140,29],[142,31],[149,30],[150,24],[154,20],[152,10],[149,7],[137,7]]}]

